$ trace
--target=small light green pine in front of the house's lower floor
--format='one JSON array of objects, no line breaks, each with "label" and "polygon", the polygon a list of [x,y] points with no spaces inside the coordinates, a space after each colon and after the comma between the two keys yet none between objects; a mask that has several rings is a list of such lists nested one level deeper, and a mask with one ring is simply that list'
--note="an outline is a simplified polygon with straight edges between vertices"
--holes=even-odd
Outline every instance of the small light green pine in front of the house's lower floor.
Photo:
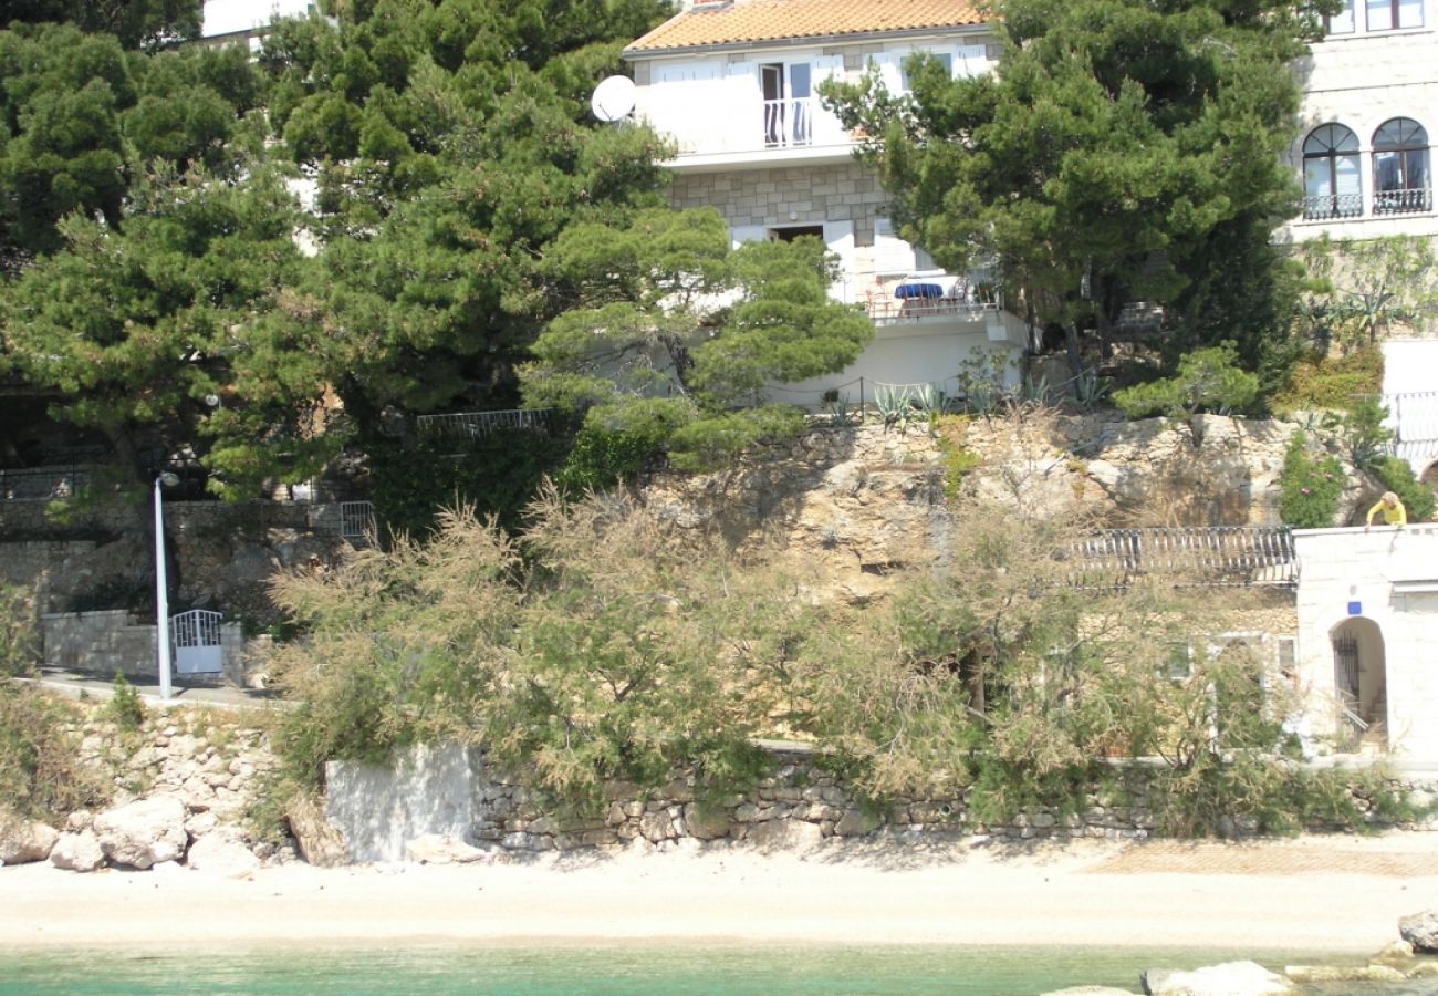
[{"label": "small light green pine in front of the house's lower floor", "polygon": [[686,466],[791,435],[788,409],[735,409],[769,384],[843,370],[873,335],[828,298],[834,271],[817,239],[731,249],[713,210],[575,225],[551,259],[577,307],[535,341],[526,404],[588,409],[590,432],[667,436]]}]

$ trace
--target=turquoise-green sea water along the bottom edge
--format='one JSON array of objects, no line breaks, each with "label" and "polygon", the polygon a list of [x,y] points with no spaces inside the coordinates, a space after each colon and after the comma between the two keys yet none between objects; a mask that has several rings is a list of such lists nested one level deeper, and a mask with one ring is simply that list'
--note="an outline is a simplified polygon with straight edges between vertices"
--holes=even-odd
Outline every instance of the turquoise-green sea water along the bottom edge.
[{"label": "turquoise-green sea water along the bottom edge", "polygon": [[[1280,969],[1311,953],[1254,954],[1037,947],[792,947],[736,944],[552,944],[544,947],[280,947],[129,954],[0,953],[9,993],[981,993],[1032,996],[1076,984],[1142,992],[1146,967],[1252,959]],[[1426,983],[1425,983],[1426,984]],[[1313,993],[1438,993],[1438,987],[1313,989]]]}]

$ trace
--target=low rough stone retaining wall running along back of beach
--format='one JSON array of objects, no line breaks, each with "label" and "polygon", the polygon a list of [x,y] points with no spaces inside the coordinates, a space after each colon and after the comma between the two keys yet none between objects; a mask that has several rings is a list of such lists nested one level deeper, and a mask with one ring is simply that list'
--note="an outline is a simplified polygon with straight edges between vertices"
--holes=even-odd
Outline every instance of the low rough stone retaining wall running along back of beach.
[{"label": "low rough stone retaining wall running along back of beach", "polygon": [[[825,838],[1142,839],[1155,832],[1142,777],[1129,780],[1123,802],[1094,789],[1078,807],[1037,806],[992,822],[975,812],[972,789],[948,797],[896,799],[881,807],[870,806],[815,764],[811,751],[792,747],[772,753],[774,773],[752,792],[700,797],[693,777],[684,774],[657,792],[611,783],[601,812],[581,819],[548,812],[525,784],[487,764],[480,748],[416,748],[390,766],[331,761],[325,815],[355,862],[417,859],[421,848],[434,846],[436,839],[498,855],[617,846],[637,839],[654,845],[684,838],[726,839],[759,848],[792,848]],[[1418,805],[1438,794],[1438,784],[1426,782],[1395,780],[1389,787],[1412,793]],[[1383,826],[1368,799],[1355,796],[1355,802],[1373,826]],[[1225,826],[1232,836],[1255,829],[1244,818]],[[1438,829],[1438,818],[1405,829]]]}]

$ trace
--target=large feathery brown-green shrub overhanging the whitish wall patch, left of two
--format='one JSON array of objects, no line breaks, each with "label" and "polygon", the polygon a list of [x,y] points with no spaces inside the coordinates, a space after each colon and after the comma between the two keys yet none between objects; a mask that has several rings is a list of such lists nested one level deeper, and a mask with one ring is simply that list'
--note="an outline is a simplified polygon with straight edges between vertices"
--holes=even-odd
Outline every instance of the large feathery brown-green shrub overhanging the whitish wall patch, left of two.
[{"label": "large feathery brown-green shrub overhanging the whitish wall patch, left of two", "polygon": [[775,597],[785,579],[672,547],[613,501],[549,494],[523,543],[522,564],[498,528],[453,512],[429,545],[278,586],[309,626],[275,661],[302,702],[278,731],[295,779],[456,738],[574,806],[608,779],[657,786],[679,764],[709,786],[752,780],[751,737],[805,632],[807,610]]}]

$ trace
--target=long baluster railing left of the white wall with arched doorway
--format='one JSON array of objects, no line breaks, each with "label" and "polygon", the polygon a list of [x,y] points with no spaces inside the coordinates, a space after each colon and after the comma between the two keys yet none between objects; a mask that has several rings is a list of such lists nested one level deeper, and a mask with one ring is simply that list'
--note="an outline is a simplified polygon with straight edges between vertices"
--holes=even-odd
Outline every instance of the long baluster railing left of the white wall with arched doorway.
[{"label": "long baluster railing left of the white wall with arched doorway", "polygon": [[1189,584],[1293,586],[1299,580],[1286,525],[1175,525],[1102,530],[1066,557],[1070,583],[1126,587],[1143,576]]}]

